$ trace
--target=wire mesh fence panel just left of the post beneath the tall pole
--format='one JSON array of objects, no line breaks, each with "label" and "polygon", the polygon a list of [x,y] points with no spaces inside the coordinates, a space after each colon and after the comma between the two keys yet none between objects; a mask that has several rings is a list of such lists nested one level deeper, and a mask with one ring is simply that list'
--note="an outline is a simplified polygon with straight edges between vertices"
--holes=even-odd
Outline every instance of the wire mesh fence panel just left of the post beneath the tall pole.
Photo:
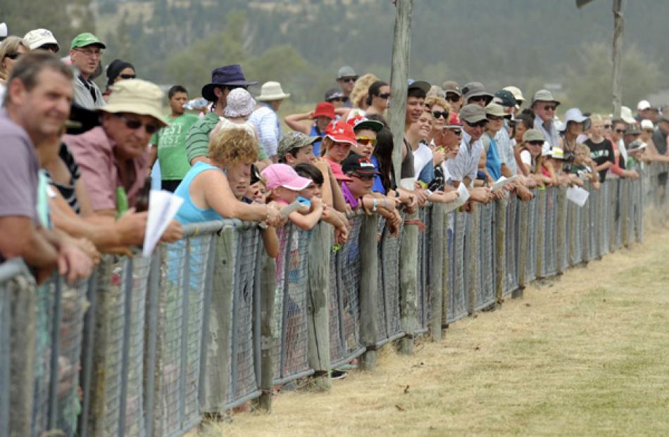
[{"label": "wire mesh fence panel just left of the post beneath the tall pole", "polygon": [[397,236],[390,236],[385,220],[380,219],[376,346],[382,346],[402,334],[399,315],[399,247],[403,229],[400,227]]}]

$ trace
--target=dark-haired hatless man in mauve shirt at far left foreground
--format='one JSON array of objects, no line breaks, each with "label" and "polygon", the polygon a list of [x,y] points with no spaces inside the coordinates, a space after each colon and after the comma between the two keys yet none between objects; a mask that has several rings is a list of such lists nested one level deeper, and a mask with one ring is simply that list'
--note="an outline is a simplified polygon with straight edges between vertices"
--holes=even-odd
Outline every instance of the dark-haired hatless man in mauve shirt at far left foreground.
[{"label": "dark-haired hatless man in mauve shirt at far left foreground", "polygon": [[7,80],[0,110],[0,260],[23,258],[38,282],[56,266],[70,283],[92,271],[90,258],[65,234],[45,229],[37,213],[39,148],[68,118],[72,80],[70,69],[50,53],[26,54]]}]

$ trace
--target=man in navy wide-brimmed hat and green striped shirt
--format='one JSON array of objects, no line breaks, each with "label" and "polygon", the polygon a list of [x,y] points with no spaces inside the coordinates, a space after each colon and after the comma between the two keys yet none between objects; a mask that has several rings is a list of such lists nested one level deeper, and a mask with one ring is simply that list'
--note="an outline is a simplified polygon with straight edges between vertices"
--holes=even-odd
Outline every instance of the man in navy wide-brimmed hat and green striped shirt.
[{"label": "man in navy wide-brimmed hat and green striped shirt", "polygon": [[[258,82],[249,82],[244,78],[244,72],[239,64],[225,65],[211,72],[211,82],[202,87],[202,96],[214,103],[211,113],[207,113],[189,129],[186,136],[186,154],[190,165],[198,161],[209,162],[209,134],[223,117],[223,110],[227,104],[227,94],[235,88],[248,88]],[[259,160],[267,158],[263,148],[260,148]]]}]

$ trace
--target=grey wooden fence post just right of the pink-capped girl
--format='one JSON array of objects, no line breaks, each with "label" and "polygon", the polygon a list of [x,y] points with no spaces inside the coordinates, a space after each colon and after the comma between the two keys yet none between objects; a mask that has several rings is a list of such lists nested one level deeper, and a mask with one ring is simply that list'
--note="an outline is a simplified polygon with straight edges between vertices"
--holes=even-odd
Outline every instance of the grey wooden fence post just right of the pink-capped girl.
[{"label": "grey wooden fence post just right of the pink-capped girl", "polygon": [[308,349],[307,360],[314,370],[313,388],[330,390],[330,248],[332,226],[320,222],[311,232],[309,248]]}]

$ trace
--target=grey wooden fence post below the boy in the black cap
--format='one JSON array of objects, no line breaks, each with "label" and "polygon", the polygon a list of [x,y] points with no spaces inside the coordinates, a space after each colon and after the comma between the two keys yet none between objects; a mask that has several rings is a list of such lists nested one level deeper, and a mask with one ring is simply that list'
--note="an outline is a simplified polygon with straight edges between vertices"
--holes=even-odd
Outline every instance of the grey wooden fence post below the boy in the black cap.
[{"label": "grey wooden fence post below the boy in the black cap", "polygon": [[378,222],[375,215],[363,217],[358,247],[360,248],[360,341],[367,348],[361,356],[363,370],[376,367],[376,340],[379,334],[379,251]]}]

